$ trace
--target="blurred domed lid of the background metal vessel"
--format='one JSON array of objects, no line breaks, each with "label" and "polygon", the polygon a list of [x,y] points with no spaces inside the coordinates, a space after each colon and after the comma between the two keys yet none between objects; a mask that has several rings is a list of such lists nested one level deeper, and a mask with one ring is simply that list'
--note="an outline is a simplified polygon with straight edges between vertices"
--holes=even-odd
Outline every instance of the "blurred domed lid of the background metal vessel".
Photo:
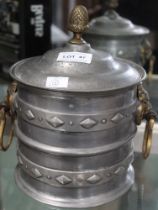
[{"label": "blurred domed lid of the background metal vessel", "polygon": [[134,25],[130,20],[121,17],[114,9],[118,0],[107,0],[108,10],[101,17],[93,19],[87,33],[105,36],[138,36],[149,34],[145,27]]}]

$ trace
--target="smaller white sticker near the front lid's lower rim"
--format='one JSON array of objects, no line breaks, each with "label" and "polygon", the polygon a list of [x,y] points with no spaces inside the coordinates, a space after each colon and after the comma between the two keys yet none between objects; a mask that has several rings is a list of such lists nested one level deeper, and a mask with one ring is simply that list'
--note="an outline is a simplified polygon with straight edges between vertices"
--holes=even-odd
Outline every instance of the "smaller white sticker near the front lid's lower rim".
[{"label": "smaller white sticker near the front lid's lower rim", "polygon": [[46,87],[48,88],[67,88],[69,77],[47,77]]}]

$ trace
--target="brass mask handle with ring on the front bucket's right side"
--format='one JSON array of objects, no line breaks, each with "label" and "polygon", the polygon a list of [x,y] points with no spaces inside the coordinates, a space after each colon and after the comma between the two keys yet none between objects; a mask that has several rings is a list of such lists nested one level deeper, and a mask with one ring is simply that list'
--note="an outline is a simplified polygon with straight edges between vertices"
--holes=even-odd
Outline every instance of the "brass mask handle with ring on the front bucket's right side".
[{"label": "brass mask handle with ring on the front bucket's right side", "polygon": [[143,119],[146,120],[142,153],[144,159],[147,159],[152,147],[153,128],[157,114],[152,110],[148,92],[142,84],[138,86],[138,99],[140,104],[137,108],[136,124],[140,125]]}]

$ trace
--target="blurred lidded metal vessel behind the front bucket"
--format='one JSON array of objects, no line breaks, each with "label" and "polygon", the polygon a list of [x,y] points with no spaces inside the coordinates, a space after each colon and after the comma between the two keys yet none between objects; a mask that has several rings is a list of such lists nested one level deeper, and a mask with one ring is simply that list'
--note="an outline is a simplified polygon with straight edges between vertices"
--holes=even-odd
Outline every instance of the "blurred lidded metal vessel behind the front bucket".
[{"label": "blurred lidded metal vessel behind the front bucket", "polygon": [[111,53],[134,61],[144,66],[147,62],[153,68],[154,57],[147,36],[149,29],[134,25],[130,20],[121,17],[115,9],[118,0],[104,0],[107,8],[105,14],[90,22],[90,27],[84,38],[91,46],[98,50]]}]

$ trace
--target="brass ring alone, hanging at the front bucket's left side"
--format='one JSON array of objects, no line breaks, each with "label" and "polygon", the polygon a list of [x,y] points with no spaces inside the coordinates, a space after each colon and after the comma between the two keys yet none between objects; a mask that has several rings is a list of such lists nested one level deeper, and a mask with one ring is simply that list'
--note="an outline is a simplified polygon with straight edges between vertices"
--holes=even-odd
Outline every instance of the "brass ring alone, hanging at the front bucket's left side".
[{"label": "brass ring alone, hanging at the front bucket's left side", "polygon": [[6,127],[6,115],[7,115],[7,113],[5,112],[4,109],[2,109],[0,111],[0,113],[1,113],[0,114],[1,115],[1,119],[0,119],[0,149],[3,150],[3,151],[6,151],[10,147],[10,145],[11,145],[11,143],[13,141],[13,136],[14,136],[14,119],[12,119],[12,117],[11,117],[12,125],[11,125],[11,129],[9,131],[8,141],[5,144],[4,143],[4,131],[5,131],[5,127]]}]

